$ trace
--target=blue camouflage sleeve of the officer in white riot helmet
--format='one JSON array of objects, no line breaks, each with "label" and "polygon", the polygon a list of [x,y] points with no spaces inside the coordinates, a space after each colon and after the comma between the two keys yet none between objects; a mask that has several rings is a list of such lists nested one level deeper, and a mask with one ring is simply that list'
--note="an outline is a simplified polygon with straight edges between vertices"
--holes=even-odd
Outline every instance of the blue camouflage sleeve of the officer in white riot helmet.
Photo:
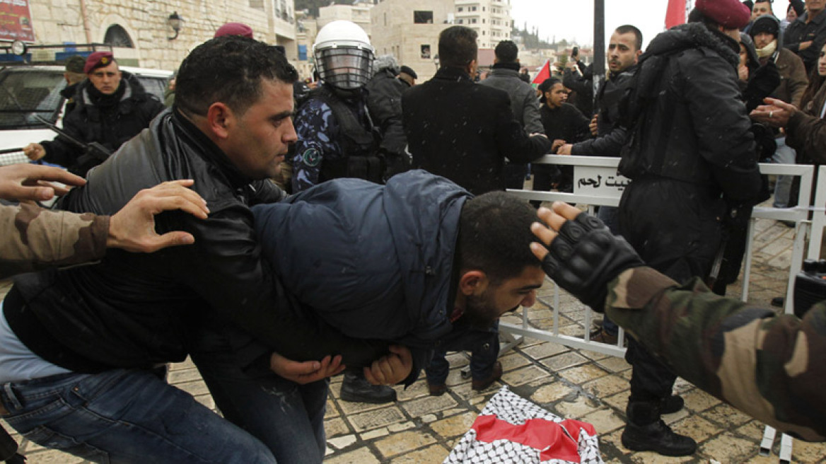
[{"label": "blue camouflage sleeve of the officer in white riot helmet", "polygon": [[338,125],[333,111],[320,100],[306,102],[296,116],[295,157],[292,159],[292,192],[301,192],[318,183],[321,162],[341,157],[335,141]]}]

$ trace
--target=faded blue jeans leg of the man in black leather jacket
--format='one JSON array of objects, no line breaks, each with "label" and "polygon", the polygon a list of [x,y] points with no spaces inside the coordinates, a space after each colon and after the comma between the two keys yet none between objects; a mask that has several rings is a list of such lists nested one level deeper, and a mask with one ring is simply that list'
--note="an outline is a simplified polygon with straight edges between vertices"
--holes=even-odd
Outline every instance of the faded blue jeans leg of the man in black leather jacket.
[{"label": "faded blue jeans leg of the man in black leather jacket", "polygon": [[275,462],[258,439],[150,371],[9,382],[0,400],[24,437],[93,462]]}]

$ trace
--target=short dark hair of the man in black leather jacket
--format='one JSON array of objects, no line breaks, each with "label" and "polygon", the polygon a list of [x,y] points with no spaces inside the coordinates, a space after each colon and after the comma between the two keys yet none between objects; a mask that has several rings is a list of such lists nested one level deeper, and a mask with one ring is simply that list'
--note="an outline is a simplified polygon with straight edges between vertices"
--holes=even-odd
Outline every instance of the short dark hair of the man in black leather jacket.
[{"label": "short dark hair of the man in black leather jacket", "polygon": [[215,102],[243,114],[261,97],[261,80],[294,83],[298,73],[284,54],[243,36],[221,36],[198,45],[183,60],[175,81],[174,106],[206,116]]}]

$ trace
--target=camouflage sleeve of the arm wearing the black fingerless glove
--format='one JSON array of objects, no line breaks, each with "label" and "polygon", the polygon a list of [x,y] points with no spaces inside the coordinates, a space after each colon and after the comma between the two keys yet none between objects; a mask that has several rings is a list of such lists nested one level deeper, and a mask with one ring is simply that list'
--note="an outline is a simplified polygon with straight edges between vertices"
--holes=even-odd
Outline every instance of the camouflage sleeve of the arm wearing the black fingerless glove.
[{"label": "camouflage sleeve of the arm wearing the black fingerless glove", "polygon": [[687,381],[784,433],[826,438],[824,302],[800,320],[634,268],[611,282],[606,307]]}]

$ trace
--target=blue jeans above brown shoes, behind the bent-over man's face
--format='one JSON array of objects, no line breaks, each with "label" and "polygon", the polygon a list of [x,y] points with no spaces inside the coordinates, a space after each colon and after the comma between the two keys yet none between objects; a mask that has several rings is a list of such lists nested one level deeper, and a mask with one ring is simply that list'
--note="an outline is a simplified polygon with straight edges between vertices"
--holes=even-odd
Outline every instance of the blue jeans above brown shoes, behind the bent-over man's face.
[{"label": "blue jeans above brown shoes, behind the bent-over man's face", "polygon": [[445,356],[449,351],[470,350],[470,372],[473,380],[482,381],[491,376],[496,357],[499,357],[499,323],[487,330],[468,329],[453,331],[436,342],[433,359],[425,367],[427,381],[443,385],[448,380],[450,363]]}]

